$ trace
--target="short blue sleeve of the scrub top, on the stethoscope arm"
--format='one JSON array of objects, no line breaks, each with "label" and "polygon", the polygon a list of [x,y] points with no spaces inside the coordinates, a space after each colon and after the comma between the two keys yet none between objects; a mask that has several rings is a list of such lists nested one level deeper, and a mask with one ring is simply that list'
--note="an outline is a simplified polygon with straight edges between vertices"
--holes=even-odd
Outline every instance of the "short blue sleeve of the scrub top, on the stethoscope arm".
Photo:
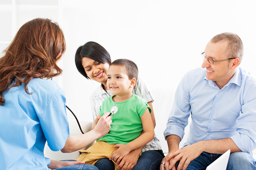
[{"label": "short blue sleeve of the scrub top, on the stethoscope arm", "polygon": [[42,96],[42,98],[46,98],[46,107],[37,111],[40,113],[38,118],[49,148],[58,151],[64,147],[69,137],[64,91],[58,88],[50,96]]}]

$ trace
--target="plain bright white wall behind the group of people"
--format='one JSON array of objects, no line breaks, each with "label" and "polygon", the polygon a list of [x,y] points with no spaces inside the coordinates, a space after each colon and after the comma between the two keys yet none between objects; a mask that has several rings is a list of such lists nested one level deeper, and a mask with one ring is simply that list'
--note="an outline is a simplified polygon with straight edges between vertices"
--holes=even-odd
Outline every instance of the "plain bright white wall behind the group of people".
[{"label": "plain bright white wall behind the group of people", "polygon": [[112,61],[137,63],[149,85],[176,86],[185,72],[201,66],[200,53],[210,38],[234,32],[244,43],[240,66],[256,75],[254,0],[0,0],[1,51],[14,36],[6,36],[10,28],[17,32],[36,17],[58,21],[64,31],[63,75],[54,80],[80,120],[92,120],[89,97],[99,86],[76,70],[76,49],[87,41],[104,46]]}]

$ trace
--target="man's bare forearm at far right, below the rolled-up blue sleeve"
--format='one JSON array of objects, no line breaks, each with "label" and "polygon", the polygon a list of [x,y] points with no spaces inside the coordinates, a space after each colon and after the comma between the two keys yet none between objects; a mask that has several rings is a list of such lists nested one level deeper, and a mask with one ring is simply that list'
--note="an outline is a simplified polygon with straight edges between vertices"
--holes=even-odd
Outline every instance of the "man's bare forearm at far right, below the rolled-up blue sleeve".
[{"label": "man's bare forearm at far right, below the rolled-up blue sleeve", "polygon": [[204,152],[207,153],[223,154],[229,149],[231,153],[241,151],[231,138],[199,141],[196,144],[198,147],[201,147]]}]

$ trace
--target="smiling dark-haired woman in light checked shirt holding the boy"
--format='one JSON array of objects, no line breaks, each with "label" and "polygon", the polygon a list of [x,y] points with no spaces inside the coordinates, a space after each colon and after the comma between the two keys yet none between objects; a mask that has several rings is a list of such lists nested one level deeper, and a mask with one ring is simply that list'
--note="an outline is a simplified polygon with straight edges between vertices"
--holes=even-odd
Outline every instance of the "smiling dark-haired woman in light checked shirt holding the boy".
[{"label": "smiling dark-haired woman in light checked shirt holding the boy", "polygon": [[[99,107],[102,105],[103,100],[112,96],[106,85],[108,67],[111,63],[110,55],[103,46],[99,45],[99,43],[90,41],[77,49],[75,62],[76,68],[85,78],[101,83],[90,97],[93,119],[95,119],[99,114]],[[140,77],[138,78],[133,92],[143,97],[148,102],[148,105],[152,109],[151,119],[155,127],[156,123],[152,107],[153,99]],[[142,152],[142,155],[139,160],[137,160],[140,152]],[[128,167],[133,170],[159,170],[163,157],[164,155],[160,147],[160,141],[155,135],[154,139],[144,148],[133,150],[125,156],[117,170],[121,168],[122,170],[126,170]],[[128,164],[129,166],[123,167],[124,164]],[[100,159],[96,162],[95,166],[98,167],[99,170],[114,169],[113,162],[108,158]]]}]

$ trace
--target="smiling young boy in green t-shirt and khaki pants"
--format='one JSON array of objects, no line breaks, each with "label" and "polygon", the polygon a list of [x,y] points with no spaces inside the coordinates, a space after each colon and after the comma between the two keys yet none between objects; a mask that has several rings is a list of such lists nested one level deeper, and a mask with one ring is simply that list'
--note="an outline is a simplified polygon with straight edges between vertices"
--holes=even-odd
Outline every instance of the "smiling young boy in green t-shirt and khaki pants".
[{"label": "smiling young boy in green t-shirt and khaki pants", "polygon": [[107,77],[107,86],[113,96],[103,101],[92,129],[105,112],[116,106],[116,114],[111,115],[111,130],[87,150],[80,150],[82,153],[77,160],[94,165],[101,158],[110,158],[116,169],[116,163],[119,164],[131,150],[145,146],[154,138],[154,127],[150,107],[143,98],[132,93],[138,78],[136,64],[127,59],[113,61]]}]

